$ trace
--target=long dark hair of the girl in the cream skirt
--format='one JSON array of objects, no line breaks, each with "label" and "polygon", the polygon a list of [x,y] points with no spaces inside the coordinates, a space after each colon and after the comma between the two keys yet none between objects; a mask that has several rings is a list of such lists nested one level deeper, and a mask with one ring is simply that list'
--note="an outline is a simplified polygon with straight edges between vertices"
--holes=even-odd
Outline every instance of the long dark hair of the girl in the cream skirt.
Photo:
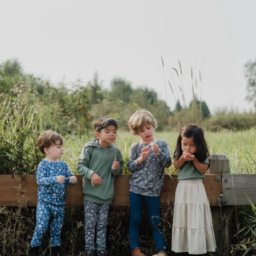
[{"label": "long dark hair of the girl in the cream skirt", "polygon": [[196,124],[187,124],[182,128],[182,130],[180,130],[176,149],[174,151],[174,160],[178,160],[180,156],[182,156],[182,137],[193,138],[194,143],[196,144],[196,153],[194,153],[194,156],[198,159],[199,162],[206,160],[207,156],[209,156],[206,139],[204,138],[204,132],[202,131],[202,128]]}]

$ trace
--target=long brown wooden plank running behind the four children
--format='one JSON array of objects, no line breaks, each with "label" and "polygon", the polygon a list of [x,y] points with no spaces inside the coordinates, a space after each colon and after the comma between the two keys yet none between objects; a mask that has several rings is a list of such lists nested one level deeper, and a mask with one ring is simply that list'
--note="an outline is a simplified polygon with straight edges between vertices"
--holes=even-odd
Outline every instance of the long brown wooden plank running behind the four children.
[{"label": "long brown wooden plank running behind the four children", "polygon": [[[215,174],[205,175],[203,180],[210,206],[219,206],[216,201],[221,194],[221,182]],[[83,206],[82,176],[76,175],[78,184],[67,186],[66,206]],[[131,175],[121,175],[114,180],[115,198],[113,206],[129,206],[129,179]],[[161,205],[174,204],[177,175],[165,175],[160,196]],[[36,206],[38,200],[36,175],[0,175],[0,206]]]}]

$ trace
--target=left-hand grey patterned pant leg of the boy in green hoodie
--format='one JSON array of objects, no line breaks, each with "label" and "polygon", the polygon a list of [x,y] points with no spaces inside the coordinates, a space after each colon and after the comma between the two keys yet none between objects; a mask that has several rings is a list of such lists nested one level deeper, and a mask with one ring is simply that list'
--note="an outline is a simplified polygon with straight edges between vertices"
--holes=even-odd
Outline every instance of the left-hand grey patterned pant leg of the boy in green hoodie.
[{"label": "left-hand grey patterned pant leg of the boy in green hoodie", "polygon": [[86,250],[94,250],[95,226],[97,222],[97,204],[84,200],[84,236]]}]

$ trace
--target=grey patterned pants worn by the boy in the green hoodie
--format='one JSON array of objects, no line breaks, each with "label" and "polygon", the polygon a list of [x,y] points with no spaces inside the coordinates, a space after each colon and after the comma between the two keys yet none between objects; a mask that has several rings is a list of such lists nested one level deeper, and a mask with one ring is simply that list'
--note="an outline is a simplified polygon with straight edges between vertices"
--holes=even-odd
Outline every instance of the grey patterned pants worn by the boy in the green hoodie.
[{"label": "grey patterned pants worn by the boy in the green hoodie", "polygon": [[[108,224],[108,212],[110,204],[97,204],[84,200],[84,226],[86,251],[104,250],[106,252],[106,225]],[[96,229],[96,245],[94,245]]]}]

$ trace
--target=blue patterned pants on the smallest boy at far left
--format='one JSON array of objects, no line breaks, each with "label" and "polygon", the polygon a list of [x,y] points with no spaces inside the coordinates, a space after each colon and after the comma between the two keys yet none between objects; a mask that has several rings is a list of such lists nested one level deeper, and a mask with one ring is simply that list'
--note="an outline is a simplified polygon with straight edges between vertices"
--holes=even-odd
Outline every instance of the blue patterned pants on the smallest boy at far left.
[{"label": "blue patterned pants on the smallest boy at far left", "polygon": [[31,247],[41,246],[42,237],[50,225],[50,246],[60,246],[60,232],[65,214],[64,206],[54,206],[46,202],[38,202],[36,207],[36,228],[31,240]]}]

